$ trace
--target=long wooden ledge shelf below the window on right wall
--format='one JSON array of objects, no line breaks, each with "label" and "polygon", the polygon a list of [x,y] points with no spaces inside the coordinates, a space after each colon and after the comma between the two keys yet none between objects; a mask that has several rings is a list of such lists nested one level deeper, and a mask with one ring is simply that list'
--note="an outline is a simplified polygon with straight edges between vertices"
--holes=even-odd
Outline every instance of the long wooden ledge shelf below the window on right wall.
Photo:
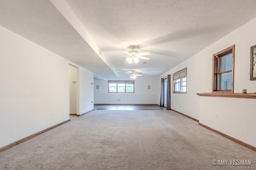
[{"label": "long wooden ledge shelf below the window on right wall", "polygon": [[221,97],[221,98],[248,98],[256,99],[256,93],[197,93],[198,96]]}]

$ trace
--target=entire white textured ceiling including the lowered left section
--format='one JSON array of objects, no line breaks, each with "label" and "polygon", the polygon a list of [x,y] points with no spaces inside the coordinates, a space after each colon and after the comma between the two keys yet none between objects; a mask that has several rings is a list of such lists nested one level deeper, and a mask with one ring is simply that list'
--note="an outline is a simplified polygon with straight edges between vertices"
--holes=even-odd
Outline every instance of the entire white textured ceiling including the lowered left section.
[{"label": "entire white textured ceiling including the lowered left section", "polygon": [[[100,52],[67,19],[72,12]],[[160,76],[256,17],[255,0],[0,0],[0,25],[103,78]],[[64,14],[64,12],[66,14]],[[69,13],[68,13],[69,12]],[[3,17],[4,16],[4,17]],[[150,51],[129,64],[122,50]],[[99,55],[104,54],[104,57]],[[146,64],[143,64],[146,62]],[[113,66],[113,68],[112,68]]]}]

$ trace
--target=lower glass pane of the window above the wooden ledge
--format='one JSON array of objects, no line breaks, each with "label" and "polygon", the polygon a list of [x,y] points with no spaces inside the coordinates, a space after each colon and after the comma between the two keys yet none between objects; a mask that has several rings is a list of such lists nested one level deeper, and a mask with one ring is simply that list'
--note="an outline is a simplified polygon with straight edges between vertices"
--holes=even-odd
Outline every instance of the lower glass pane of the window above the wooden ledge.
[{"label": "lower glass pane of the window above the wooden ledge", "polygon": [[218,90],[231,90],[232,72],[219,74]]}]

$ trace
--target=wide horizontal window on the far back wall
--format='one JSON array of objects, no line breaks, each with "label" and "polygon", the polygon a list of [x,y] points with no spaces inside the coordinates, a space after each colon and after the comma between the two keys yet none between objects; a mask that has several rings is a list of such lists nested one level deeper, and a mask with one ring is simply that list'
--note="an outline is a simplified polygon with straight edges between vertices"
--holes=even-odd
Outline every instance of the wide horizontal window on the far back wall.
[{"label": "wide horizontal window on the far back wall", "polygon": [[134,80],[108,81],[108,93],[134,93]]}]

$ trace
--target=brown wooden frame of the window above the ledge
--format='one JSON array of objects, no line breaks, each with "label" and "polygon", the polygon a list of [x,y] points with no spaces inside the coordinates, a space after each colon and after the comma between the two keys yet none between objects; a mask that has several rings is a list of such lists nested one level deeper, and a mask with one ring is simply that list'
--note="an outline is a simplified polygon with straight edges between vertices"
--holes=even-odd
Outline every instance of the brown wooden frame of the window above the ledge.
[{"label": "brown wooden frame of the window above the ledge", "polygon": [[[232,53],[232,80],[231,90],[218,90],[218,75],[224,72],[220,72],[220,59],[219,57]],[[212,55],[212,93],[234,93],[234,61],[235,61],[235,45],[232,45],[218,53]],[[226,72],[231,72],[226,71]]]}]

